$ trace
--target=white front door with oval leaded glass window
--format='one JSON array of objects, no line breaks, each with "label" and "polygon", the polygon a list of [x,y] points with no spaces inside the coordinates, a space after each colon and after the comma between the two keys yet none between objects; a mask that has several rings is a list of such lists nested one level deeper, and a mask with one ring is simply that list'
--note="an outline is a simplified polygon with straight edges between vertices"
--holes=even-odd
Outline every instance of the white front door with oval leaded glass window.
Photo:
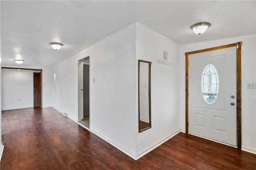
[{"label": "white front door with oval leaded glass window", "polygon": [[236,146],[236,47],[188,56],[188,132]]}]

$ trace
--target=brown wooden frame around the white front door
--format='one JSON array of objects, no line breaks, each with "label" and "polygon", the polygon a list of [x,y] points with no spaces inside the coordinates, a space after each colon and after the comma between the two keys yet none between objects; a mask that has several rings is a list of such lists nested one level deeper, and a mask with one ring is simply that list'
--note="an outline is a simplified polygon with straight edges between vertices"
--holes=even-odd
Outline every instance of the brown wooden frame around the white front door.
[{"label": "brown wooden frame around the white front door", "polygon": [[202,53],[206,51],[213,51],[218,49],[224,49],[228,47],[236,47],[236,146],[238,149],[241,150],[242,147],[242,125],[241,125],[241,45],[242,41],[228,44],[228,45],[221,45],[218,47],[212,47],[208,49],[201,49],[197,51],[190,51],[185,53],[186,57],[186,133],[188,134],[188,55],[190,54],[196,54],[196,53]]}]

